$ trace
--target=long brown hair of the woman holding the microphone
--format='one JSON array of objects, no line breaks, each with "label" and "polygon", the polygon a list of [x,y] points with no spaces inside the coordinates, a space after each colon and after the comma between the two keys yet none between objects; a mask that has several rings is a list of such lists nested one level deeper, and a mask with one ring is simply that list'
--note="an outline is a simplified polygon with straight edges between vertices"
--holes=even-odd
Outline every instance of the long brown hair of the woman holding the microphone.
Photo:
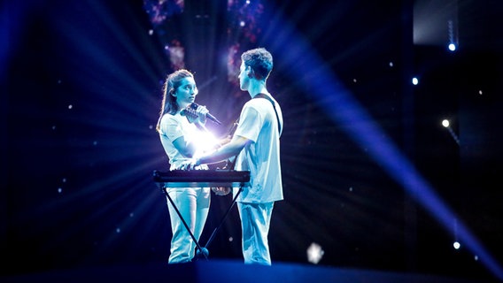
[{"label": "long brown hair of the woman holding the microphone", "polygon": [[178,103],[176,103],[176,97],[173,96],[176,88],[179,88],[182,84],[182,80],[191,77],[194,78],[194,75],[185,69],[180,69],[175,71],[174,73],[170,73],[166,77],[166,81],[163,86],[163,96],[162,96],[162,104],[159,113],[159,120],[156,126],[156,130],[159,132],[160,130],[160,119],[164,116],[164,114],[169,113],[174,115],[176,111],[178,111]]}]

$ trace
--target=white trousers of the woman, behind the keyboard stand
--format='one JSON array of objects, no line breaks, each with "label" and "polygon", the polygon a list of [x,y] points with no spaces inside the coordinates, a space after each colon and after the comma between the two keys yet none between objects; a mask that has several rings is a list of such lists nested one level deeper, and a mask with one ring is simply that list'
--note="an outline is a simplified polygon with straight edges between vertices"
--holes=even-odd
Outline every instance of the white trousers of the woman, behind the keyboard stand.
[{"label": "white trousers of the woman, behind the keyboard stand", "polygon": [[[190,227],[190,232],[199,241],[205,227],[208,211],[210,210],[209,187],[170,187],[167,194],[173,200],[174,205],[182,214],[182,218]],[[174,210],[173,205],[166,196],[169,218],[171,219],[171,254],[169,264],[188,263],[192,260],[196,251],[196,243],[190,237],[190,233],[183,225],[182,219]]]}]

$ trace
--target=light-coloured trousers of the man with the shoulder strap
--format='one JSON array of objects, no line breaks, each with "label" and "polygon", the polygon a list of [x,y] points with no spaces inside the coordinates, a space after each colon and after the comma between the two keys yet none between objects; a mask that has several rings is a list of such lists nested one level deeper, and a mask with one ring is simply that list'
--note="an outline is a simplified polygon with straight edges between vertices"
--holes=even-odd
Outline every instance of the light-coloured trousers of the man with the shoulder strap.
[{"label": "light-coloured trousers of the man with the shoulder strap", "polygon": [[243,232],[244,264],[271,265],[267,235],[274,203],[237,203]]}]

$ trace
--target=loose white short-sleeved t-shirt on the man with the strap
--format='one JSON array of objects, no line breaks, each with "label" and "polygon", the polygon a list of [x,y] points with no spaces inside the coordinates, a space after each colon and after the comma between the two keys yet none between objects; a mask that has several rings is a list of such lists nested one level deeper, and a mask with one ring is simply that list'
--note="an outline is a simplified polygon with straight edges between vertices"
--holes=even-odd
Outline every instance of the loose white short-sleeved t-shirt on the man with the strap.
[{"label": "loose white short-sleeved t-shirt on the man with the strap", "polygon": [[[282,111],[276,102],[275,108],[282,125]],[[250,187],[243,188],[238,202],[270,203],[283,199],[277,124],[275,110],[267,99],[255,98],[244,104],[235,134],[252,142],[237,156],[235,169],[250,171]]]}]

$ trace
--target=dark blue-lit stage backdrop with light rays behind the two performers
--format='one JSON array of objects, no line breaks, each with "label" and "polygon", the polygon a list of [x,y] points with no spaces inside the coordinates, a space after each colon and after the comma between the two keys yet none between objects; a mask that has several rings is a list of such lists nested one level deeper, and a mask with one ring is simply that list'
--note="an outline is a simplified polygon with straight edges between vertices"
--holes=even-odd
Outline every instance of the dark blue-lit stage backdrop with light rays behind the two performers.
[{"label": "dark blue-lit stage backdrop with light rays behind the two performers", "polygon": [[[167,169],[155,125],[173,71],[165,46],[179,41],[197,102],[224,124],[209,125],[216,135],[248,98],[228,80],[230,47],[275,57],[285,200],[274,262],[313,264],[315,244],[318,264],[334,268],[503,279],[503,4],[434,3],[186,1],[154,23],[143,1],[4,2],[1,274],[167,262],[166,199],[151,172]],[[414,182],[400,160],[439,201],[418,201],[427,192],[404,185]],[[203,243],[230,199],[212,202]],[[241,261],[240,239],[232,210],[210,258]]]}]

